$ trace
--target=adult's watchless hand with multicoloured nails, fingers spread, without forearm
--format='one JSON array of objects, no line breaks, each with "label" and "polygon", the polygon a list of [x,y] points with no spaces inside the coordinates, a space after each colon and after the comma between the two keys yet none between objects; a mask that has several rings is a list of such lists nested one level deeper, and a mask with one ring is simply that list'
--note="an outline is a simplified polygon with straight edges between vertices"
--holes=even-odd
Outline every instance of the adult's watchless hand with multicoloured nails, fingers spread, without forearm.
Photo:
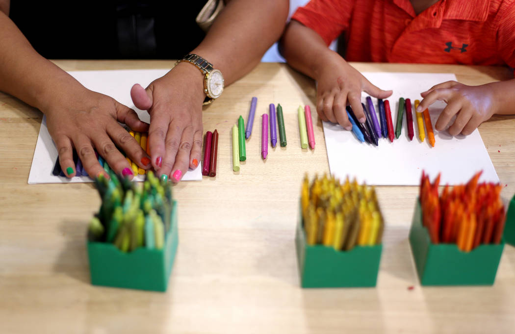
[{"label": "adult's watchless hand with multicoloured nails, fingers spread, without forearm", "polygon": [[[141,168],[151,167],[140,144],[118,124],[118,121],[127,124],[134,131],[148,130],[148,124],[142,122],[132,109],[107,95],[87,89],[79,94],[64,95],[67,96],[66,100],[53,101],[45,108],[45,114],[48,132],[57,145],[59,163],[68,178],[76,173],[73,148],[92,178],[104,173],[94,148],[117,174],[130,179],[133,178],[131,166],[117,147]],[[66,172],[68,167],[73,169],[72,173]]]}]

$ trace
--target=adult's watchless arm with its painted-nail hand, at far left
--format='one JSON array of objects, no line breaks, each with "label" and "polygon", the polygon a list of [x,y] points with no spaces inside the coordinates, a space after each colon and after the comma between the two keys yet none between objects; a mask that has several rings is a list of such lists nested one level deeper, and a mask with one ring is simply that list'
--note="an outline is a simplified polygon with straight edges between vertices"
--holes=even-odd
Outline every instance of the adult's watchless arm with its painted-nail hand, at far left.
[{"label": "adult's watchless arm with its painted-nail hand, at far left", "polygon": [[[0,7],[6,12],[8,8]],[[117,121],[135,131],[146,131],[148,125],[139,120],[133,110],[109,96],[86,89],[71,75],[41,57],[3,11],[0,11],[0,45],[0,91],[18,97],[46,115],[61,167],[64,171],[67,167],[73,169],[67,177],[76,172],[73,147],[90,175],[104,170],[93,148],[117,173],[122,174],[126,168],[130,170],[115,144],[140,167],[150,167],[150,164],[141,163],[147,156],[145,151]]]}]

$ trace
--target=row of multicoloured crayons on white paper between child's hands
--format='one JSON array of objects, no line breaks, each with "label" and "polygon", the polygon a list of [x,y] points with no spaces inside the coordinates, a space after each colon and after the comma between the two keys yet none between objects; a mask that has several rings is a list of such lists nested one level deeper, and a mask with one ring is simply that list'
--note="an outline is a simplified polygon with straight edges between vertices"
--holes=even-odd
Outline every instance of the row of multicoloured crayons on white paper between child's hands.
[{"label": "row of multicoloured crayons on white paper between child's hands", "polygon": [[[415,109],[417,109],[420,101],[415,100]],[[363,111],[365,113],[366,121],[361,124],[354,114],[350,106],[347,107],[347,116],[352,124],[352,132],[361,142],[367,142],[375,146],[379,145],[379,138],[389,138],[390,142],[393,143],[394,138],[399,138],[402,133],[402,121],[404,114],[406,114],[406,127],[408,132],[409,140],[413,140],[414,129],[413,129],[413,111],[411,110],[410,99],[399,99],[399,109],[397,112],[397,122],[395,131],[393,131],[393,122],[391,117],[390,102],[388,100],[377,99],[377,108],[379,109],[379,118],[375,114],[374,104],[372,98],[367,96],[368,109],[364,103],[362,103]],[[433,126],[431,124],[431,117],[429,111],[426,109],[422,113],[415,112],[417,117],[417,126],[419,130],[420,142],[424,142],[425,130],[427,131],[427,139],[432,147],[435,146],[435,135]],[[381,122],[381,125],[380,125]]]}]

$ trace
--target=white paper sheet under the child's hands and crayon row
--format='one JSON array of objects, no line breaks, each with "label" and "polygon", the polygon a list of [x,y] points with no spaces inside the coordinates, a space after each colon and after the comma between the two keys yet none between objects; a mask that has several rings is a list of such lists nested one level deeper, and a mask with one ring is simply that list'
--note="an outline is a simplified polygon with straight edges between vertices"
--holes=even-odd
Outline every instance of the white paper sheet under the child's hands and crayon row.
[{"label": "white paper sheet under the child's hands and crayon row", "polygon": [[[367,73],[363,75],[374,85],[383,90],[393,90],[390,102],[393,128],[396,127],[399,98],[409,98],[413,111],[414,101],[422,100],[420,93],[433,85],[456,80],[454,74],[444,73]],[[367,106],[366,97],[362,102]],[[372,98],[379,120],[377,99]],[[438,101],[429,108],[433,129],[438,115],[445,103]],[[452,137],[447,131],[435,133],[435,147],[431,147],[426,138],[421,143],[418,136],[415,112],[414,137],[409,141],[404,115],[402,133],[390,143],[388,138],[379,139],[379,146],[361,143],[352,131],[346,131],[339,125],[323,122],[325,145],[331,174],[336,178],[352,179],[370,185],[418,185],[422,170],[429,173],[431,179],[441,172],[440,184],[455,185],[467,182],[474,173],[483,170],[480,181],[499,182],[499,177],[492,165],[483,139],[476,129],[468,136]]]}]

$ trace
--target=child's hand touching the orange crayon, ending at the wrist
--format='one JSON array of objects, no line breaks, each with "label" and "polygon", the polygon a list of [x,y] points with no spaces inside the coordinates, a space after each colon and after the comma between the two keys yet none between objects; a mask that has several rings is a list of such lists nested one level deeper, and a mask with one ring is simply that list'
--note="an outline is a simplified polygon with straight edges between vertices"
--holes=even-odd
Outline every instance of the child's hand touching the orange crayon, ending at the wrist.
[{"label": "child's hand touching the orange crayon, ending at the wrist", "polygon": [[420,94],[423,99],[417,112],[424,111],[436,100],[444,101],[443,109],[435,128],[442,131],[454,115],[456,119],[449,127],[450,135],[471,134],[482,122],[489,119],[497,110],[493,90],[490,84],[468,86],[456,81],[437,84]]}]

